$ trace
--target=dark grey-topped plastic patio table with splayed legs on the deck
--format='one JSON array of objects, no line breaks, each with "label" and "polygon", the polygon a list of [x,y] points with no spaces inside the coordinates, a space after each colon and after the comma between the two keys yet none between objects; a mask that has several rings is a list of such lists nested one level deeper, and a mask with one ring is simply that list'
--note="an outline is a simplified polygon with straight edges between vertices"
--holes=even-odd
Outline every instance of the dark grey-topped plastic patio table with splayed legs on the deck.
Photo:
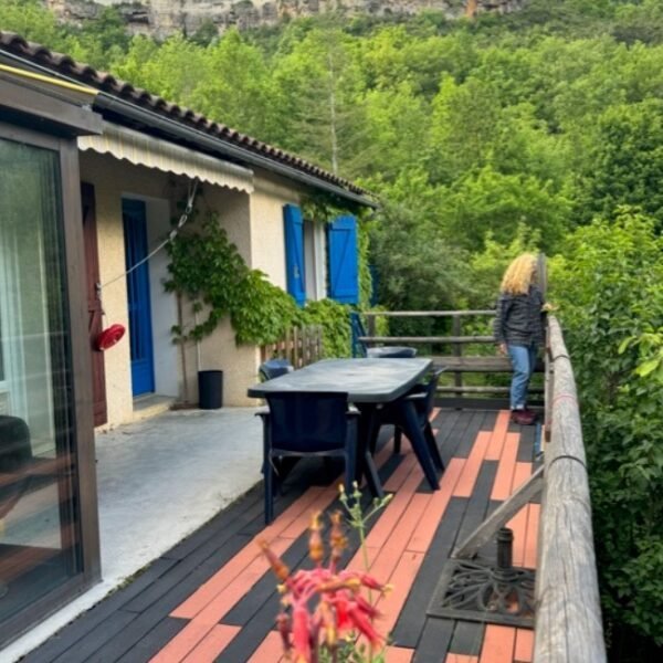
[{"label": "dark grey-topped plastic patio table with splayed legs on the deck", "polygon": [[[282,391],[339,391],[361,412],[360,450],[357,467],[366,475],[371,492],[382,496],[383,491],[369,452],[368,441],[379,421],[379,408],[394,401],[403,409],[406,435],[412,444],[419,464],[433,491],[439,488],[433,461],[417,421],[412,401],[401,399],[419,382],[432,366],[431,359],[325,359],[285,376],[254,385],[252,398],[264,398]],[[400,399],[400,400],[399,400]]]}]

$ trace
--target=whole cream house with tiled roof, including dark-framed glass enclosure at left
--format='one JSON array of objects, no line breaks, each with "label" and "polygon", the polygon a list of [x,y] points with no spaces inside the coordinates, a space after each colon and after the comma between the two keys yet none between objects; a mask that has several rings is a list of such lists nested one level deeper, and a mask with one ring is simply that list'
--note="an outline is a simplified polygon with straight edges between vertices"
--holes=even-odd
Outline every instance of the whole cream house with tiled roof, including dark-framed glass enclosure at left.
[{"label": "whole cream house with tiled roof, including dark-framed glass enclosure at left", "polygon": [[[356,219],[325,232],[302,201],[375,203],[294,155],[4,32],[0,167],[4,643],[99,578],[93,424],[130,421],[159,397],[196,402],[199,369],[224,371],[227,404],[253,404],[260,349],[238,346],[228,322],[198,347],[172,343],[173,325],[196,323],[162,287],[159,246],[178,203],[214,211],[246,264],[299,305],[358,294]],[[112,324],[128,332],[102,351]]]}]

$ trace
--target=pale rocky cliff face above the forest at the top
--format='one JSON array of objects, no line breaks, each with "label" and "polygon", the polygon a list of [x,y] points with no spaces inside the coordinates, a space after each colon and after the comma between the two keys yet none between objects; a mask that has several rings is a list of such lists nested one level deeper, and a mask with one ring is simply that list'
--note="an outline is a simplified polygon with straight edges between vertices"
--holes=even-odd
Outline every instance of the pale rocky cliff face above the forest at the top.
[{"label": "pale rocky cliff face above the forest at the top", "polygon": [[443,11],[450,18],[467,11],[508,12],[526,0],[43,0],[63,20],[81,23],[94,19],[104,6],[115,6],[133,33],[162,38],[181,30],[196,32],[213,23],[219,33],[231,25],[240,29],[273,24],[281,19],[307,17],[329,11],[348,15],[414,14],[423,10]]}]

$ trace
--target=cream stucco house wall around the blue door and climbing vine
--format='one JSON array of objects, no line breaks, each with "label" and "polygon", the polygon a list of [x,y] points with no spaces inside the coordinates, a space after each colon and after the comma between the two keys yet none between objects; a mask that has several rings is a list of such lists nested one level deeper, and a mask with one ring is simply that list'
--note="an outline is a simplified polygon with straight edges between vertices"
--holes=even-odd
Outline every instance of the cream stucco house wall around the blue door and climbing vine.
[{"label": "cream stucco house wall around the blue door and climbing vine", "polygon": [[[149,225],[150,210],[169,210],[171,214],[176,212],[175,203],[186,194],[187,181],[92,151],[81,152],[81,178],[95,187],[101,280],[102,283],[106,283],[125,271],[123,197],[138,198],[148,203]],[[302,189],[266,171],[255,173],[254,185],[255,191],[252,194],[208,183],[202,185],[196,207],[199,211],[217,212],[221,225],[246,263],[253,269],[262,270],[270,281],[285,288],[283,206],[298,203]],[[160,221],[159,225],[161,225]],[[155,232],[149,234],[151,245],[156,234]],[[162,267],[162,265],[159,267],[159,274],[164,273]],[[150,276],[154,277],[152,272],[150,265]],[[194,318],[188,302],[179,302],[178,308],[175,296],[171,302],[167,302],[166,298],[170,295],[162,294],[159,312],[166,312],[166,315],[155,314],[154,299],[158,295],[158,286],[155,283],[151,283],[151,291],[152,322],[164,325],[166,317],[169,315],[177,317],[178,311],[185,325],[202,319],[202,314],[198,314]],[[124,277],[104,288],[103,304],[106,324],[120,323],[128,328]],[[164,336],[162,332],[164,329],[160,329],[155,333],[157,346],[159,343],[157,337]],[[164,343],[158,347],[161,348],[161,354],[170,351]],[[177,373],[179,400],[197,403],[198,371],[219,369],[224,372],[223,403],[225,406],[255,404],[253,399],[246,397],[246,390],[257,380],[260,351],[254,346],[236,346],[229,320],[224,320],[212,335],[199,344],[189,343],[183,348],[178,347],[175,352],[173,356],[169,356],[166,366],[172,366]],[[155,357],[155,364],[158,361],[159,358]],[[134,418],[134,399],[128,336],[105,352],[105,372],[108,425],[130,421]],[[166,375],[167,371],[162,372]],[[173,389],[168,387],[167,391],[171,393]]]}]

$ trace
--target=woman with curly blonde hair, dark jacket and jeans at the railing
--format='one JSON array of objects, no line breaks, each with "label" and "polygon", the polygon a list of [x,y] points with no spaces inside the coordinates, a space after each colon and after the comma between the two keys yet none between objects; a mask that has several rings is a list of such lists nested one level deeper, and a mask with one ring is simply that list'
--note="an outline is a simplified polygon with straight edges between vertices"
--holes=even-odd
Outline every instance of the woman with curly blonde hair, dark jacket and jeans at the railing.
[{"label": "woman with curly blonde hair, dark jacket and jeans at the railing", "polygon": [[514,375],[511,386],[512,421],[528,425],[536,414],[527,409],[527,389],[539,346],[544,343],[544,297],[536,286],[536,256],[514,260],[502,280],[495,317],[495,341],[508,354]]}]

